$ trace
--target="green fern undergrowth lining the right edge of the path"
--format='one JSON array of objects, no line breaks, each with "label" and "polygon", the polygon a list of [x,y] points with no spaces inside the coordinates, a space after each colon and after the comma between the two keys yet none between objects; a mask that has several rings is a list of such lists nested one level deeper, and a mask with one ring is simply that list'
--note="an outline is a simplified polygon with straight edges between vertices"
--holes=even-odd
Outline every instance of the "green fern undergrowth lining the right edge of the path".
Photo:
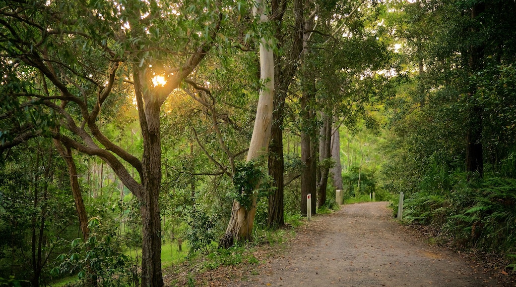
[{"label": "green fern undergrowth lining the right edge of the path", "polygon": [[434,164],[419,191],[407,196],[404,218],[430,225],[458,246],[481,252],[516,253],[516,178],[513,156],[483,178]]}]

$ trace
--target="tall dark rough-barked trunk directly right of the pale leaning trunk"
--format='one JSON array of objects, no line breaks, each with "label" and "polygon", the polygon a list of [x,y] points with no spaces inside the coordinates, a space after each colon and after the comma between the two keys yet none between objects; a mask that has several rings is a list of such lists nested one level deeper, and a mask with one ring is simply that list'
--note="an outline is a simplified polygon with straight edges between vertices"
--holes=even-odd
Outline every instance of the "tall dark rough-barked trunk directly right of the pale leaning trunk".
[{"label": "tall dark rough-barked trunk directly right of the pale leaning trunk", "polygon": [[[272,1],[272,20],[277,23],[276,38],[283,39],[282,35],[282,17],[284,9],[278,0]],[[275,89],[272,112],[272,129],[271,140],[269,144],[269,175],[272,176],[275,190],[269,195],[269,207],[267,213],[267,226],[277,228],[283,226],[283,196],[284,196],[284,157],[283,157],[283,114],[285,106],[285,98],[288,92],[288,86],[292,82],[296,72],[299,54],[303,45],[303,4],[302,0],[294,0],[294,16],[296,23],[296,33],[293,39],[289,57],[285,62],[281,61],[278,55],[275,55]],[[283,46],[283,43],[279,45]]]}]

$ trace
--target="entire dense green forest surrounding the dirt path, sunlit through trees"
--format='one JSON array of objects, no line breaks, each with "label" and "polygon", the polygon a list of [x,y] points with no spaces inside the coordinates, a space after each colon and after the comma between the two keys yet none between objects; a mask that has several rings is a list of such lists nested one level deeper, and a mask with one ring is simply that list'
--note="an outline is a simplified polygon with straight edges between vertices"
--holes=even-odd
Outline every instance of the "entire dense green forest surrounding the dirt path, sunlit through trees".
[{"label": "entire dense green forest surrounding the dirt path, sunlit through trees", "polygon": [[1,3],[0,286],[160,286],[337,189],[516,261],[516,2]]}]

